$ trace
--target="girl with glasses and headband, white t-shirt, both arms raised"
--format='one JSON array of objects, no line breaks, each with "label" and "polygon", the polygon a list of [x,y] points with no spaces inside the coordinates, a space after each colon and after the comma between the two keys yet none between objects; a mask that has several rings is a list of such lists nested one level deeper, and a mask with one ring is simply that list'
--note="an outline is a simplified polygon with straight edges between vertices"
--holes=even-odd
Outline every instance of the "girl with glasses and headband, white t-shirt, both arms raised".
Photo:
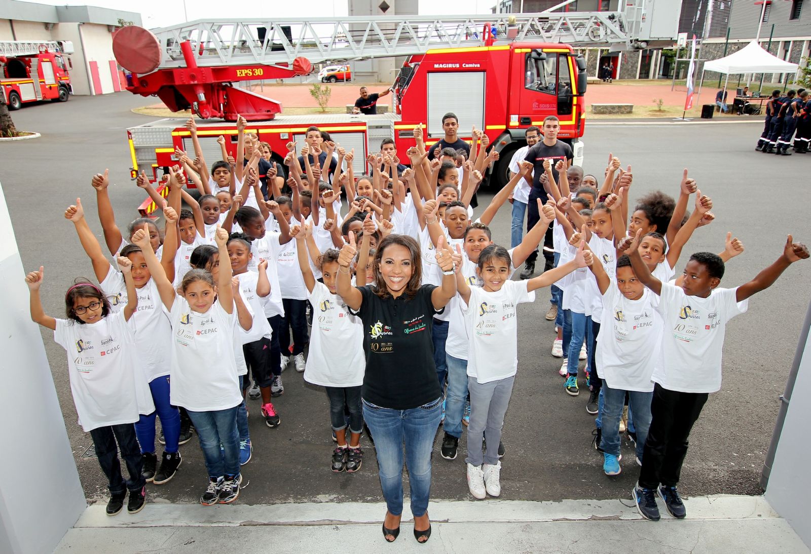
[{"label": "girl with glasses and headband, white t-shirt, both arms raised", "polygon": [[[146,233],[144,237],[148,244]],[[54,341],[67,351],[67,371],[79,424],[90,433],[99,465],[108,479],[110,516],[122,510],[127,490],[127,511],[135,514],[144,508],[146,480],[133,424],[140,416],[155,411],[148,383],[135,358],[132,314],[138,294],[131,275],[132,262],[118,258],[118,267],[127,282],[127,305],[114,313],[100,288],[77,282],[65,294],[67,319],[50,317],[42,308],[43,268],[25,277],[31,292],[31,319],[53,330]],[[118,449],[127,463],[130,478],[126,481],[121,475]]]}]

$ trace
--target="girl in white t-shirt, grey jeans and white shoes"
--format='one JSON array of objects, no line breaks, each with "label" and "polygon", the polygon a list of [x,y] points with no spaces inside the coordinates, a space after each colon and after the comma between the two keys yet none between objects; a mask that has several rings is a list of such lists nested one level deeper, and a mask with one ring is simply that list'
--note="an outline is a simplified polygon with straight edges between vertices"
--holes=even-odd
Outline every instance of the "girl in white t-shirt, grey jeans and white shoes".
[{"label": "girl in white t-shirt, grey jeans and white shoes", "polygon": [[[482,286],[470,286],[457,264],[457,292],[469,333],[467,362],[470,391],[467,481],[475,498],[499,496],[498,448],[518,367],[517,305],[534,300],[536,288],[586,266],[581,243],[572,261],[534,279],[509,279],[512,259],[503,246],[489,245],[478,255],[476,274]],[[483,439],[487,452],[482,455]]]}]

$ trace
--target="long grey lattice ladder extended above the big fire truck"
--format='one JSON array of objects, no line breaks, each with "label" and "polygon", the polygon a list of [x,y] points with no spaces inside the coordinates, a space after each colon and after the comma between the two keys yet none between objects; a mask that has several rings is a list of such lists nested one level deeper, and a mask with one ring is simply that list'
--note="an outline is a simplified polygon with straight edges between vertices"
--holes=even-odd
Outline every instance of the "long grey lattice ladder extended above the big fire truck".
[{"label": "long grey lattice ladder extended above the big fire truck", "polygon": [[[408,56],[429,49],[483,45],[513,40],[564,42],[573,46],[606,45],[612,49],[646,48],[672,37],[643,36],[642,23],[652,17],[644,2],[630,1],[627,11],[543,12],[539,14],[413,15],[344,19],[197,20],[156,29],[161,45],[159,68],[183,67],[181,45],[195,45],[198,66],[312,63]],[[649,2],[650,3],[650,2]],[[637,6],[637,4],[639,6]]]}]

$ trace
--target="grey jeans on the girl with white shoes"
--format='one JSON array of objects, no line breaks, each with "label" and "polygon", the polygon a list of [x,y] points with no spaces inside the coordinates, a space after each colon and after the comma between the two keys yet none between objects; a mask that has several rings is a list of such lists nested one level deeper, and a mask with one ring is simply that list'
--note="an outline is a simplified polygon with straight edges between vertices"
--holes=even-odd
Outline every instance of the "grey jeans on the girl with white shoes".
[{"label": "grey jeans on the girl with white shoes", "polygon": [[[501,428],[507,413],[509,397],[513,394],[515,376],[479,383],[476,377],[467,378],[470,391],[470,425],[467,428],[467,458],[465,462],[481,466],[482,462],[495,466],[499,462]],[[482,455],[482,441],[487,439],[487,452]]]}]

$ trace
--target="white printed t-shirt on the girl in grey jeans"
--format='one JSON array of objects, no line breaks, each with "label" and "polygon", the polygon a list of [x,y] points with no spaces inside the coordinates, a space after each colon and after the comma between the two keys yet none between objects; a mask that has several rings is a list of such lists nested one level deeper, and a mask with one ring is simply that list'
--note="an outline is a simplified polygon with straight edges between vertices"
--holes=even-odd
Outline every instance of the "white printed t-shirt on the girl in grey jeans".
[{"label": "white printed t-shirt on the girl in grey jeans", "polygon": [[479,383],[513,377],[518,369],[517,305],[535,300],[528,281],[505,281],[498,292],[470,287],[462,310],[470,333],[467,374]]}]

